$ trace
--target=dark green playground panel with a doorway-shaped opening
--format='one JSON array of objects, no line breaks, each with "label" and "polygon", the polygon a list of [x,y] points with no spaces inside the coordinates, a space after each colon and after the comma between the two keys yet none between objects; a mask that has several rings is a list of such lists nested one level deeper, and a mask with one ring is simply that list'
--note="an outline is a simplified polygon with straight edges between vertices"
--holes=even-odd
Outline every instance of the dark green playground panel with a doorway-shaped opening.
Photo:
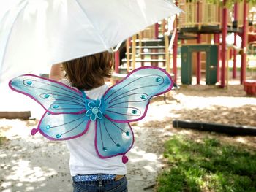
[{"label": "dark green playground panel with a doorway-shaped opening", "polygon": [[192,84],[192,53],[206,52],[206,85],[217,82],[218,46],[183,45],[181,46],[181,83]]}]

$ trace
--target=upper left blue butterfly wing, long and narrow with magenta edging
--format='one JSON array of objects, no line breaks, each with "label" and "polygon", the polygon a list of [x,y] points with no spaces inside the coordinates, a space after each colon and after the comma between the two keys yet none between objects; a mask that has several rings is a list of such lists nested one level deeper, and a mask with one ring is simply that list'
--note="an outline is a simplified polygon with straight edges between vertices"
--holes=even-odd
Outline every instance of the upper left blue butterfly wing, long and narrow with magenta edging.
[{"label": "upper left blue butterfly wing, long and narrow with magenta edging", "polygon": [[50,113],[81,113],[85,111],[82,93],[61,82],[33,74],[24,74],[10,80],[9,85],[12,90],[30,96]]}]

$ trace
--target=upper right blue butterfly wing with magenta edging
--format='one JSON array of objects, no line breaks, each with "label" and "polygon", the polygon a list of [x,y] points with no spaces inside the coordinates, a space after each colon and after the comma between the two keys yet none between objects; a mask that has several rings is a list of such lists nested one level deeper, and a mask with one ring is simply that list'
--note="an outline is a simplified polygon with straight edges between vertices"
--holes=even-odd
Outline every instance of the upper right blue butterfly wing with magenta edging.
[{"label": "upper right blue butterfly wing with magenta edging", "polygon": [[144,118],[150,99],[170,91],[173,81],[165,70],[148,66],[135,69],[104,95],[105,116],[116,122]]}]

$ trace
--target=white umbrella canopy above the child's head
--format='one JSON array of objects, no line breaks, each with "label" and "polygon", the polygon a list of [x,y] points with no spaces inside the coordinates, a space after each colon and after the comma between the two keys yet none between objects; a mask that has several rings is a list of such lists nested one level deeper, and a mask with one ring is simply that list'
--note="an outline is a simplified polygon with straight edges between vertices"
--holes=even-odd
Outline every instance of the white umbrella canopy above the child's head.
[{"label": "white umbrella canopy above the child's head", "polygon": [[167,0],[0,0],[0,81],[109,50],[178,12]]}]

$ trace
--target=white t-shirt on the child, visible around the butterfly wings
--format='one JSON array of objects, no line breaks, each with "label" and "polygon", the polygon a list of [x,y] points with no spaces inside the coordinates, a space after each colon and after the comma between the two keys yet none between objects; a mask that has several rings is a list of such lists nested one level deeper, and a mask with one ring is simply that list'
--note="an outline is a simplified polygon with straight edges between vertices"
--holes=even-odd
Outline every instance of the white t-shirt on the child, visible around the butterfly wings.
[{"label": "white t-shirt on the child, visible around the butterfly wings", "polygon": [[[70,85],[67,80],[61,80],[66,85]],[[85,91],[90,99],[100,99],[108,85]],[[112,158],[99,158],[95,145],[95,123],[91,121],[88,131],[81,137],[67,140],[67,147],[70,153],[69,168],[70,174],[127,174],[127,167],[122,163],[122,156]]]}]

